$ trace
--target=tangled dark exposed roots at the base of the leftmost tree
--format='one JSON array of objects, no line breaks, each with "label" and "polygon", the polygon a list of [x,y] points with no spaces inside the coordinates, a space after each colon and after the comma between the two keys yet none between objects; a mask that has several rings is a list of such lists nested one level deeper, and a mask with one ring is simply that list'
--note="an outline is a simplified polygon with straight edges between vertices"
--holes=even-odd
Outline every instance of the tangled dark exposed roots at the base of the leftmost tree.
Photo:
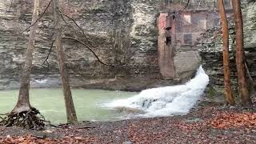
[{"label": "tangled dark exposed roots at the base of the leftmost tree", "polygon": [[[38,114],[40,115],[38,117]],[[9,114],[1,114],[5,117],[1,117],[1,126],[18,126],[26,129],[42,130],[47,122],[45,118],[35,108],[30,110],[24,110],[21,112],[15,112],[14,110]],[[50,123],[50,122],[49,122]]]}]

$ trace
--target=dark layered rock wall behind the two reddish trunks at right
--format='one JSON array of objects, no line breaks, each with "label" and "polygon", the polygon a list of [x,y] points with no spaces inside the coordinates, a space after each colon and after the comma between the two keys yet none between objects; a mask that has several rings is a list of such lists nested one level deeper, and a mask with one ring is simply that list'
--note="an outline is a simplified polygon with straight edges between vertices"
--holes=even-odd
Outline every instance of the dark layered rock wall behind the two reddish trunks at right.
[{"label": "dark layered rock wall behind the two reddish trunks at right", "polygon": [[[246,53],[246,61],[249,66],[250,74],[254,81],[256,80],[256,3],[243,3],[244,9],[244,50]],[[230,70],[231,70],[231,86],[237,90],[237,74],[234,54],[234,22],[230,21]],[[210,76],[210,85],[216,90],[223,93],[223,66],[222,66],[222,30],[220,26],[216,26],[212,30],[207,30],[202,34],[202,38],[198,40],[200,46],[200,54],[202,56],[202,65],[206,73]]]}]

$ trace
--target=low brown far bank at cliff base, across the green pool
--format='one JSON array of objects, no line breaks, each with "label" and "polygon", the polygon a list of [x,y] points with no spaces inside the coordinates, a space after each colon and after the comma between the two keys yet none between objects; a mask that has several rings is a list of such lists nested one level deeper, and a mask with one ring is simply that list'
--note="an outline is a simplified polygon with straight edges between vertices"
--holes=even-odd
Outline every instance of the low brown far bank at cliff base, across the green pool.
[{"label": "low brown far bank at cliff base, across the green pool", "polygon": [[[137,77],[137,78],[98,78],[98,79],[83,79],[71,78],[70,86],[73,89],[97,89],[97,90],[121,90],[129,92],[139,92],[142,90],[160,87],[174,86],[187,82],[188,79],[165,80],[158,77]],[[62,88],[59,78],[46,78],[42,80],[32,80],[30,88],[42,89]],[[13,83],[0,83],[0,90],[18,90],[19,79]]]}]

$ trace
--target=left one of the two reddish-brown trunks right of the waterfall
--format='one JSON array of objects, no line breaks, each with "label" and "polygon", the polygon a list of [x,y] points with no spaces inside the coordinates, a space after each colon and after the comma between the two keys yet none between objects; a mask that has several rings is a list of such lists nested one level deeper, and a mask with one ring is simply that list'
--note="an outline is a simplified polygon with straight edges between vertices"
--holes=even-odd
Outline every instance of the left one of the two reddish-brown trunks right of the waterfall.
[{"label": "left one of the two reddish-brown trunks right of the waterfall", "polygon": [[230,86],[230,54],[229,54],[229,30],[226,19],[226,12],[223,0],[218,0],[218,10],[222,22],[222,47],[223,47],[223,68],[224,68],[224,84],[226,93],[226,102],[234,105],[234,98],[231,93]]}]

